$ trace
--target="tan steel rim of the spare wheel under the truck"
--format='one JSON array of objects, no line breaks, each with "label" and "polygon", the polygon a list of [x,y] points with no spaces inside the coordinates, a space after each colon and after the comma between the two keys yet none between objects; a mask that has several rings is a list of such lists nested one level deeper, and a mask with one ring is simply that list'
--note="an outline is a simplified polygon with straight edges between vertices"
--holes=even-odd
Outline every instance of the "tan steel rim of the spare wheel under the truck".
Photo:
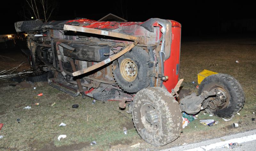
[{"label": "tan steel rim of the spare wheel under the truck", "polygon": [[135,62],[129,58],[122,60],[120,65],[120,73],[126,81],[132,82],[135,80],[138,73]]}]

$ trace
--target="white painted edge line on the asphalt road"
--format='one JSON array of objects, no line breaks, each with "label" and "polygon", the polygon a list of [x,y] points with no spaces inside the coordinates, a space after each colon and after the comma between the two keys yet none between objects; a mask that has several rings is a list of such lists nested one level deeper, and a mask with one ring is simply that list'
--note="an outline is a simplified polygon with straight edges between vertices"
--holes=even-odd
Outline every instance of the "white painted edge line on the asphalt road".
[{"label": "white painted edge line on the asphalt road", "polygon": [[210,144],[207,146],[201,146],[201,147],[196,147],[196,148],[192,148],[192,149],[187,149],[184,151],[208,151],[208,150],[215,149],[215,148],[221,148],[221,146],[228,144],[228,143],[243,143],[243,142],[248,142],[248,141],[252,141],[252,140],[256,140],[256,134],[244,136],[244,137],[240,137],[240,138],[236,138],[236,139],[229,139],[226,141],[221,141],[221,142]]}]

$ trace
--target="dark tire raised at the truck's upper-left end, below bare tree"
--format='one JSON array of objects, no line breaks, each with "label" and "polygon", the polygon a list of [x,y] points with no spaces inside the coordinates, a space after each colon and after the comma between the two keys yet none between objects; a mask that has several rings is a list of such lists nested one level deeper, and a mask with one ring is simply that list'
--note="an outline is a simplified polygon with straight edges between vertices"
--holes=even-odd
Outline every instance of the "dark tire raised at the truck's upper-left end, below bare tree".
[{"label": "dark tire raised at the truck's upper-left end, below bare tree", "polygon": [[42,30],[43,22],[41,20],[18,21],[14,25],[16,32],[19,33],[23,31]]}]

